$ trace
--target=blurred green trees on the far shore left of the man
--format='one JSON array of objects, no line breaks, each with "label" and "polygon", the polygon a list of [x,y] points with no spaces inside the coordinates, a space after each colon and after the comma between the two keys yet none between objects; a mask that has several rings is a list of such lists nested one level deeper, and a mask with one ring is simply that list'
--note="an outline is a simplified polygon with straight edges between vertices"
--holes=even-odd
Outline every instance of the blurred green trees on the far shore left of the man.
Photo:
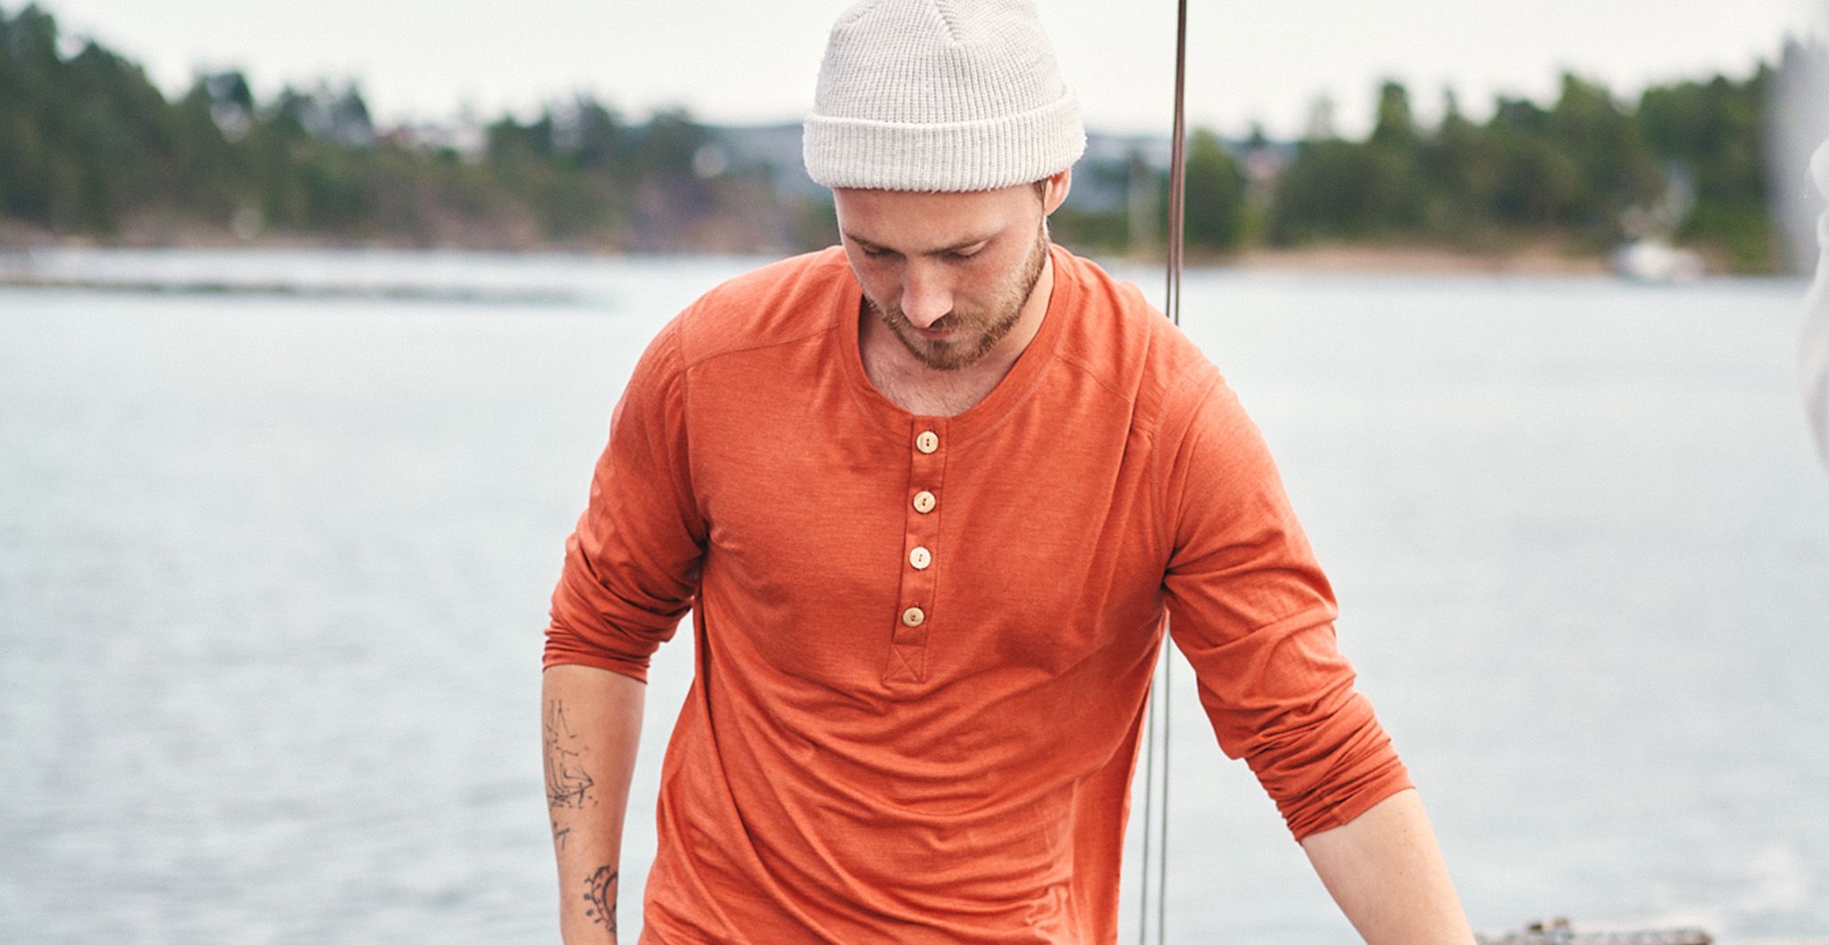
[{"label": "blurred green trees on the far shore left of the man", "polygon": [[0,218],[53,234],[236,221],[331,239],[690,249],[695,227],[766,188],[757,168],[697,174],[710,130],[684,111],[629,124],[578,99],[488,124],[483,154],[465,157],[377,135],[355,86],[258,102],[227,71],[166,101],[101,46],[59,48],[40,7],[0,9]]}]

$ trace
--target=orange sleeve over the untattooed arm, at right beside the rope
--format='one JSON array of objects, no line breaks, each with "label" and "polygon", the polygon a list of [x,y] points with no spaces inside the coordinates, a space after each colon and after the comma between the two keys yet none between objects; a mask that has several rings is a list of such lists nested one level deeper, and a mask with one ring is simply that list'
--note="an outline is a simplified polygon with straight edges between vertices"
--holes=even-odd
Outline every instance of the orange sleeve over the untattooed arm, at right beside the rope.
[{"label": "orange sleeve over the untattooed arm, at right beside the rope", "polygon": [[1187,422],[1163,431],[1178,437],[1165,453],[1169,629],[1220,748],[1246,759],[1302,839],[1410,780],[1335,647],[1333,590],[1262,435],[1211,367],[1183,388]]}]

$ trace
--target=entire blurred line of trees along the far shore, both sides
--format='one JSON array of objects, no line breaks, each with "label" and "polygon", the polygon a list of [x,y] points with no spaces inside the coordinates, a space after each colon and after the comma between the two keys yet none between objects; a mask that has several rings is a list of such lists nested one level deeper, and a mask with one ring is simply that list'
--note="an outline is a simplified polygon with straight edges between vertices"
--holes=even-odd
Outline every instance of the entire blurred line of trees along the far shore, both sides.
[{"label": "entire blurred line of trees along the far shore, both sides", "polygon": [[[1432,126],[1403,84],[1385,82],[1364,139],[1335,133],[1326,108],[1295,143],[1196,130],[1189,250],[1547,241],[1604,252],[1661,236],[1734,271],[1772,271],[1765,99],[1778,71],[1820,60],[1791,46],[1747,79],[1655,86],[1635,102],[1566,75],[1553,104],[1500,97],[1485,121],[1450,93]],[[263,102],[236,71],[199,75],[168,101],[141,66],[73,44],[44,9],[0,9],[0,221],[42,234],[611,250],[781,250],[834,236],[829,199],[797,166],[744,155],[686,111],[635,121],[578,97],[474,132],[377,128],[355,86]],[[1055,236],[1145,252],[1165,194],[1165,170],[1141,154],[1086,161]]]}]

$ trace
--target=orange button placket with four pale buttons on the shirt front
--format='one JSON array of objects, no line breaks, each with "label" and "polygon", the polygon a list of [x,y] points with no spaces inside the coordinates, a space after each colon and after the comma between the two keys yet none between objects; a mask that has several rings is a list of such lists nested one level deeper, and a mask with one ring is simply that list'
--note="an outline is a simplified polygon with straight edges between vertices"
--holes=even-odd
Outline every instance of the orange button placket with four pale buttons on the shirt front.
[{"label": "orange button placket with four pale buttons on the shirt front", "polygon": [[946,473],[947,422],[940,417],[914,417],[909,422],[909,492],[902,506],[904,545],[902,581],[889,636],[885,682],[922,682],[925,678],[927,640],[933,623],[940,557],[940,486]]}]

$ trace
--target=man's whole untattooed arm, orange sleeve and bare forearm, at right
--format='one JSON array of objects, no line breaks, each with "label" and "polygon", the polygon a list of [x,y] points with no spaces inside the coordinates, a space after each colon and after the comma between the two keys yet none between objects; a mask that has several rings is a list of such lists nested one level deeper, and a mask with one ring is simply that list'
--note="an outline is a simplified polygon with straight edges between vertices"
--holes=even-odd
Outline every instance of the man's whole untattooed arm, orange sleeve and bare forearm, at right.
[{"label": "man's whole untattooed arm, orange sleeve and bare forearm, at right", "polygon": [[1471,945],[1423,804],[1335,645],[1333,590],[1262,435],[1216,375],[1178,393],[1194,404],[1169,430],[1163,590],[1220,748],[1251,764],[1370,945]]}]

